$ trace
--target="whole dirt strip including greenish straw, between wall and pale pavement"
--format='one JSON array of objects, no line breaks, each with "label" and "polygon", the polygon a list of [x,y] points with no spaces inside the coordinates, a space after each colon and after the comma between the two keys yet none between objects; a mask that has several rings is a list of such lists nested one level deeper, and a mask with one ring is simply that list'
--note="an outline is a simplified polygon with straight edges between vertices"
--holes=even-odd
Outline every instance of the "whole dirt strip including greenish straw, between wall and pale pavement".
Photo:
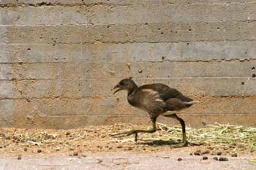
[{"label": "whole dirt strip including greenish straw, between wall and pale pavement", "polygon": [[[157,152],[173,150],[172,144],[180,142],[181,127],[157,123],[154,134],[113,138],[108,134],[132,128],[146,129],[148,125],[114,124],[86,126],[67,130],[0,128],[1,154],[58,154],[69,155],[70,151],[79,155],[89,152]],[[151,128],[148,126],[148,128]],[[206,125],[206,128],[187,127],[188,147],[183,147],[190,155],[231,155],[243,152],[256,154],[256,128],[242,125]],[[192,147],[190,147],[192,146]],[[71,153],[73,155],[73,153]],[[233,155],[236,156],[236,155]]]}]

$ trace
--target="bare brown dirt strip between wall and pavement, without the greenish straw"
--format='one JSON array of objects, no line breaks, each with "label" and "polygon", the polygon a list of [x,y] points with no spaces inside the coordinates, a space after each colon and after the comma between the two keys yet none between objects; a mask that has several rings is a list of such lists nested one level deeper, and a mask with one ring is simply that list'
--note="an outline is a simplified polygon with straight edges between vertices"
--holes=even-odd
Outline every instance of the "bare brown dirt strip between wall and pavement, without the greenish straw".
[{"label": "bare brown dirt strip between wall and pavement, without the greenish straw", "polygon": [[138,142],[134,141],[134,135],[122,138],[109,136],[131,128],[149,127],[149,125],[115,124],[69,130],[1,128],[0,152],[1,155],[17,156],[17,158],[29,155],[86,157],[97,153],[118,152],[153,154],[175,150],[185,152],[185,155],[200,157],[203,155],[256,156],[254,150],[234,143],[190,141],[188,147],[173,148],[172,144],[179,142],[179,139],[172,139],[172,135],[162,128],[154,134],[139,134]]}]

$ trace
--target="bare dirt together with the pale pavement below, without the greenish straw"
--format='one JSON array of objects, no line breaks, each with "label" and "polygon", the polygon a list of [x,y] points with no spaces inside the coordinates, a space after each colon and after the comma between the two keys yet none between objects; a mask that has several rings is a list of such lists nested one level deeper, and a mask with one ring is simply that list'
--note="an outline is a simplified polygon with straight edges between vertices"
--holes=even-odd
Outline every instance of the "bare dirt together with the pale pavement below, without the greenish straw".
[{"label": "bare dirt together with the pale pavement below, without the greenish straw", "polygon": [[[197,143],[173,148],[166,131],[113,138],[148,125],[102,125],[71,130],[0,129],[1,169],[256,169],[256,152],[239,144]],[[207,160],[203,160],[207,157]],[[215,161],[213,158],[227,158]],[[178,161],[181,158],[181,161]]]}]

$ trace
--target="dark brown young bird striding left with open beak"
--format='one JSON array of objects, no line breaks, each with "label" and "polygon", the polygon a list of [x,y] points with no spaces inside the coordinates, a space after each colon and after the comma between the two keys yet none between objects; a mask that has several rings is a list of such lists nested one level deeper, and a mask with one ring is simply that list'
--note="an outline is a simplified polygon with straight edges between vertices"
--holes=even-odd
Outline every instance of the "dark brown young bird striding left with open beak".
[{"label": "dark brown young bird striding left with open beak", "polygon": [[127,90],[128,103],[132,105],[132,107],[137,107],[148,112],[152,122],[152,128],[149,130],[132,129],[117,134],[110,134],[110,136],[122,137],[135,134],[135,142],[137,142],[138,133],[154,133],[157,131],[157,117],[163,115],[165,117],[172,117],[181,123],[182,141],[180,144],[176,144],[177,147],[185,147],[189,144],[187,142],[184,120],[178,117],[176,113],[169,111],[180,111],[181,109],[186,109],[193,104],[199,103],[199,101],[184,96],[175,88],[170,88],[168,85],[162,83],[147,84],[138,87],[131,77],[118,82],[112,90],[114,89],[116,90],[113,94],[120,90]]}]

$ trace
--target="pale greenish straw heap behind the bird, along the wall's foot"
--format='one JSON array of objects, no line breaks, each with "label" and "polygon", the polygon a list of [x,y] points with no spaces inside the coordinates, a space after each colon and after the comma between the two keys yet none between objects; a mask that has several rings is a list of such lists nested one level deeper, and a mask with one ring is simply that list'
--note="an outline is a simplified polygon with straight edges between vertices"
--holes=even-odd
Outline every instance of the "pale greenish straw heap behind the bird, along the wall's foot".
[{"label": "pale greenish straw heap behind the bird, along the wall's foot", "polygon": [[[181,138],[181,127],[168,126],[158,123],[162,131],[167,131],[173,139]],[[189,142],[195,143],[218,143],[230,145],[242,145],[254,152],[256,150],[256,128],[243,125],[206,125],[206,128],[187,128]]]}]

